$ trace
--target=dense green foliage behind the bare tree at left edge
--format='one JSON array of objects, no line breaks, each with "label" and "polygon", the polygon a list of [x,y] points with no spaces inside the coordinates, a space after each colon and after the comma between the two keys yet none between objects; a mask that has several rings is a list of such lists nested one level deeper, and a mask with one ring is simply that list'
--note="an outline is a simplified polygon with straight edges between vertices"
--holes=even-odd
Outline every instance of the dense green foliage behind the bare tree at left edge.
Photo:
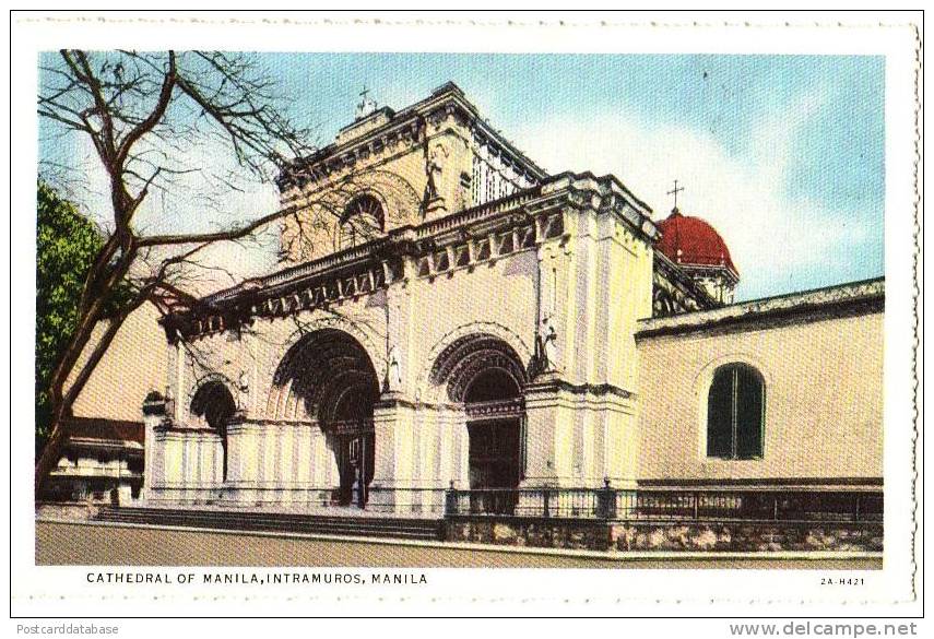
[{"label": "dense green foliage behind the bare tree at left edge", "polygon": [[36,229],[36,450],[49,436],[49,383],[78,323],[87,270],[104,246],[97,227],[39,180]]}]

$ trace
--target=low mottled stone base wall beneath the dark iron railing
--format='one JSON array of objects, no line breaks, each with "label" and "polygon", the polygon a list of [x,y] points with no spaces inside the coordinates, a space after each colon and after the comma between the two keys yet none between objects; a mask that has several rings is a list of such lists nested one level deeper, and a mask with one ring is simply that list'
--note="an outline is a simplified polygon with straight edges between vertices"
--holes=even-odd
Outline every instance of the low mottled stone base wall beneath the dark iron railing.
[{"label": "low mottled stone base wall beneath the dark iron railing", "polygon": [[606,522],[459,517],[449,542],[613,552],[882,552],[882,523]]}]

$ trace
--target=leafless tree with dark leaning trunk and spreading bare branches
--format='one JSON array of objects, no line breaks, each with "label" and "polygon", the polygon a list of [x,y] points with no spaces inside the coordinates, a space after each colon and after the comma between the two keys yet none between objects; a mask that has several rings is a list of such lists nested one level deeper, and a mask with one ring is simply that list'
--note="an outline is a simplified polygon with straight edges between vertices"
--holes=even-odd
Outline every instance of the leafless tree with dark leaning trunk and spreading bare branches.
[{"label": "leafless tree with dark leaning trunk and spreading bare branches", "polygon": [[[143,235],[134,223],[151,192],[163,198],[178,194],[186,176],[203,176],[194,187],[199,191],[214,185],[227,193],[238,191],[223,170],[191,164],[189,156],[198,144],[224,141],[238,165],[265,182],[279,176],[286,157],[314,150],[310,131],[289,119],[287,103],[275,87],[257,60],[243,54],[63,49],[43,58],[37,113],[52,134],[76,134],[93,145],[107,177],[110,206],[107,214],[95,211],[95,215],[107,220],[104,226],[110,235],[87,272],[76,328],[52,374],[52,435],[36,465],[37,496],[57,462],[74,400],[127,316],[146,301],[164,310],[176,303],[193,304],[184,284],[196,277],[193,269],[212,268],[197,258],[206,247],[243,242],[270,223],[296,215],[295,208],[286,208],[206,233],[176,232],[165,214],[156,217],[161,233]],[[78,163],[68,166],[69,156],[44,159],[40,166],[70,174],[67,180],[80,181],[87,173]],[[218,197],[196,192],[190,201],[213,202],[217,208],[208,212],[221,211]],[[149,274],[140,273],[145,270]],[[108,300],[121,289],[132,295],[95,339]],[[88,348],[91,356],[82,360]],[[66,388],[68,379],[73,381]]]}]

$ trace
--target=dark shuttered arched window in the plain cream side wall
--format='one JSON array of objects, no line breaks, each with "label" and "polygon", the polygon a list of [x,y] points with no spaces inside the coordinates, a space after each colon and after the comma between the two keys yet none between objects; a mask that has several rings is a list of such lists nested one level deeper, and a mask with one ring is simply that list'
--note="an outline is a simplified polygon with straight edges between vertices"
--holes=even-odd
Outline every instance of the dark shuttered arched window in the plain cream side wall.
[{"label": "dark shuttered arched window in the plain cream side wall", "polygon": [[747,364],[726,364],[713,372],[707,395],[707,457],[762,457],[766,384]]}]

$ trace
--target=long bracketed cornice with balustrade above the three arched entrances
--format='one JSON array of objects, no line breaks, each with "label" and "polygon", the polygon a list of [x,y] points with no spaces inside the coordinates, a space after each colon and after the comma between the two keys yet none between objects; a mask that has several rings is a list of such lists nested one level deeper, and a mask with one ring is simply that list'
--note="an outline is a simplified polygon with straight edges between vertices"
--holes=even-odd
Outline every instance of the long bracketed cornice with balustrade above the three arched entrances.
[{"label": "long bracketed cornice with balustrade above the three arched entrances", "polygon": [[[256,317],[284,317],[340,304],[407,277],[434,277],[454,264],[493,261],[548,241],[566,242],[570,236],[565,216],[575,210],[615,215],[649,244],[658,237],[654,224],[612,178],[563,174],[500,200],[419,225],[397,227],[364,245],[247,280],[161,321],[169,341],[175,341],[239,330]],[[485,251],[476,247],[477,242],[485,242]],[[436,268],[434,257],[439,251],[444,255]],[[411,264],[423,258],[427,259],[427,272],[422,273],[423,264],[413,273]]]}]

